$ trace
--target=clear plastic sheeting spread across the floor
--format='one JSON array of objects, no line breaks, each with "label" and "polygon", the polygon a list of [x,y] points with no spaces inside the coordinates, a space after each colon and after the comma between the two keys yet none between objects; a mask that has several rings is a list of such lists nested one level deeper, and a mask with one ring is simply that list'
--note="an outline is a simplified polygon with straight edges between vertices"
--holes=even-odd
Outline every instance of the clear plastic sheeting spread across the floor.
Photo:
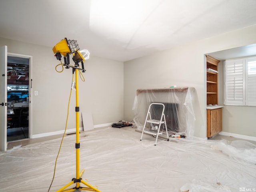
[{"label": "clear plastic sheeting spread across the floor", "polygon": [[[145,135],[140,141],[140,135],[131,127],[81,133],[83,180],[97,185],[102,192],[238,192],[240,187],[256,187],[255,162],[241,156],[232,158],[245,147],[254,159],[253,144],[233,144],[232,153],[227,154],[222,150],[230,147],[228,142],[173,138],[169,142],[159,140],[154,146],[154,137]],[[47,192],[60,141],[61,138],[2,152],[0,191]],[[50,191],[69,183],[75,170],[73,134],[64,138]]]}]

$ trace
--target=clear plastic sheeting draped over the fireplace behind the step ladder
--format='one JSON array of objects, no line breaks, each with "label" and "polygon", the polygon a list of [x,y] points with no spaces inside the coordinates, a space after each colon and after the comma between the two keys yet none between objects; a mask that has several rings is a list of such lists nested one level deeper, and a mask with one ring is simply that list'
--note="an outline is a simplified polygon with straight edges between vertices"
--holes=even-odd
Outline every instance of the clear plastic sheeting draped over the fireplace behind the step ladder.
[{"label": "clear plastic sheeting draped over the fireplace behind the step ladder", "polygon": [[[138,89],[133,104],[134,122],[138,130],[142,130],[151,103],[165,105],[165,117],[169,134],[181,134],[188,138],[194,136],[195,114],[193,109],[194,88],[157,88]],[[153,109],[152,117],[160,119],[160,112]],[[146,126],[149,127],[148,124]]]}]

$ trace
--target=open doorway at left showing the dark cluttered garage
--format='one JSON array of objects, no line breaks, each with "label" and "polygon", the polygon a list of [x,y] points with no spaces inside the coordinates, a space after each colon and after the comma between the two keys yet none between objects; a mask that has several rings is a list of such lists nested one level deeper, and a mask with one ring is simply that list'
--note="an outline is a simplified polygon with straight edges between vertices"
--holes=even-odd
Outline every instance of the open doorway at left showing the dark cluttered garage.
[{"label": "open doorway at left showing the dark cluttered garage", "polygon": [[29,138],[30,58],[7,56],[7,142]]}]

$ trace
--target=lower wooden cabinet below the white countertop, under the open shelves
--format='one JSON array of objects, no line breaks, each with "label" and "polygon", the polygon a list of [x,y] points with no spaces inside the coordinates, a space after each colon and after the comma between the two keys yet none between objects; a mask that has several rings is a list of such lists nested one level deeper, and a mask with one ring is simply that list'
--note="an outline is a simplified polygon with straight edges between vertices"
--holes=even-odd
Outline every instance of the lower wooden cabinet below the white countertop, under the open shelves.
[{"label": "lower wooden cabinet below the white countertop, under the open shelves", "polygon": [[207,137],[222,131],[222,108],[207,109]]}]

